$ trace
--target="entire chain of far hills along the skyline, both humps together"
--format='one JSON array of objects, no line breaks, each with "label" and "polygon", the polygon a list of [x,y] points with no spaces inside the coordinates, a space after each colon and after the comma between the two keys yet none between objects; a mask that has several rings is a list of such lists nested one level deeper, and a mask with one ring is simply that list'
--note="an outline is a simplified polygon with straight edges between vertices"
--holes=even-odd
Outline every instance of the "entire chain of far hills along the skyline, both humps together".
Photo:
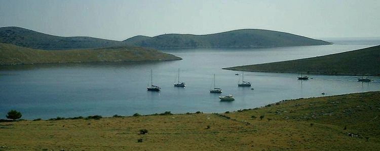
[{"label": "entire chain of far hills along the skyline, both humps together", "polygon": [[262,48],[332,44],[305,36],[263,29],[239,29],[206,35],[163,34],[154,37],[138,35],[125,41],[111,41],[88,36],[56,36],[21,27],[1,27],[0,43],[41,50],[117,46],[139,46],[161,50],[173,48]]}]

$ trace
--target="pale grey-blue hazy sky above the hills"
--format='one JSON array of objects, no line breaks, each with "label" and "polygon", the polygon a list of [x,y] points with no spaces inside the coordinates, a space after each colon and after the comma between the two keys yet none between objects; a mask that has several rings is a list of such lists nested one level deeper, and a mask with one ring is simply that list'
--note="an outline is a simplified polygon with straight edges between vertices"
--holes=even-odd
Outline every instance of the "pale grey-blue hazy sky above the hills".
[{"label": "pale grey-blue hazy sky above the hills", "polygon": [[243,28],[312,38],[379,37],[380,1],[5,1],[0,27],[123,41],[135,35]]}]

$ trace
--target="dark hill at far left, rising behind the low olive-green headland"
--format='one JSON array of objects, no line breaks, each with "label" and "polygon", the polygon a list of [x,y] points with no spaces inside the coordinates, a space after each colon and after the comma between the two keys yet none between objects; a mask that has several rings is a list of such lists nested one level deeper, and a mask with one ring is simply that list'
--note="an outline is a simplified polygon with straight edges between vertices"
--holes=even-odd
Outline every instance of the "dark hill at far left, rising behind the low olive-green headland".
[{"label": "dark hill at far left, rising behind the low olive-green headland", "polygon": [[125,45],[120,41],[97,39],[88,36],[55,36],[21,27],[1,27],[0,43],[42,50],[103,48]]}]

